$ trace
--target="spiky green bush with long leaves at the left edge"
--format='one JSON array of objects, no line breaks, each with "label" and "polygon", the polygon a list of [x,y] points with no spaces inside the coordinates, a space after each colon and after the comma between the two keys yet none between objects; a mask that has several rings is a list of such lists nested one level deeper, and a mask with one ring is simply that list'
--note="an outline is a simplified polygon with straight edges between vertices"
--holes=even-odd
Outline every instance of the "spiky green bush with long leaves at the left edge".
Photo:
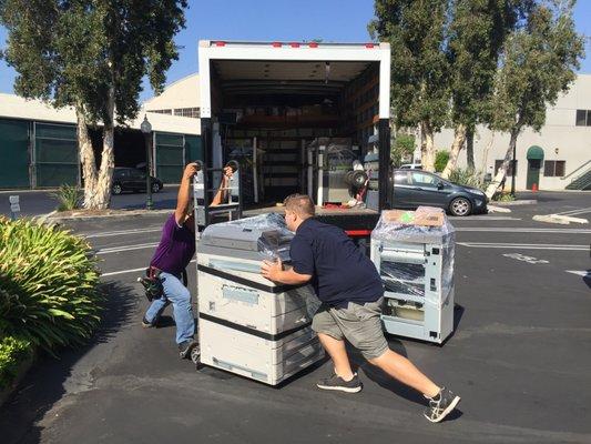
[{"label": "spiky green bush with long leaves at the left edge", "polygon": [[34,221],[0,218],[0,332],[39,345],[84,342],[102,295],[90,245]]}]

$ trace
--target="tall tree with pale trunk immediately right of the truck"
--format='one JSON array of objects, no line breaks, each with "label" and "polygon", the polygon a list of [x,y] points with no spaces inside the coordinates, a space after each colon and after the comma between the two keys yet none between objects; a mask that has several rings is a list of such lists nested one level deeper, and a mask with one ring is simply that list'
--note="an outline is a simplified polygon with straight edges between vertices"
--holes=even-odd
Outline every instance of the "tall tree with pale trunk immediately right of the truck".
[{"label": "tall tree with pale trunk immediately right of the truck", "polygon": [[448,0],[376,0],[368,26],[373,38],[390,43],[395,125],[420,129],[427,171],[435,171],[434,138],[448,118],[447,27]]}]

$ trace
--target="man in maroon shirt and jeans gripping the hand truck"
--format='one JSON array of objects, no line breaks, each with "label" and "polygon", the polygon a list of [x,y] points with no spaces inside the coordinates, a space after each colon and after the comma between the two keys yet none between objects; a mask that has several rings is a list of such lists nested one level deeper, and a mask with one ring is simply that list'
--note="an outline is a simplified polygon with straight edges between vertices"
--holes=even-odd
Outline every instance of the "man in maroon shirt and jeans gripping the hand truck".
[{"label": "man in maroon shirt and jeans gripping the hand truck", "polygon": [[[197,173],[197,164],[186,165],[179,188],[176,209],[169,216],[162,229],[162,238],[150,262],[157,270],[162,283],[162,295],[152,301],[143,320],[142,326],[154,326],[164,311],[172,303],[176,323],[176,344],[182,359],[188,356],[197,345],[194,340],[195,320],[191,305],[191,293],[183,285],[182,273],[195,254],[195,220],[191,211],[191,180]],[[211,205],[218,205],[226,199],[226,189],[232,169],[226,167],[220,190]]]}]

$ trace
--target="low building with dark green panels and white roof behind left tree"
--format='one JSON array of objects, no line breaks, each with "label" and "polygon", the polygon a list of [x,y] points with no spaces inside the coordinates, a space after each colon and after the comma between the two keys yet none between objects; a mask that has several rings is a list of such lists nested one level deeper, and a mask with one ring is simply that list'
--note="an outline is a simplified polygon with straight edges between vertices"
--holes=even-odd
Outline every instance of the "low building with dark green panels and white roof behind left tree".
[{"label": "low building with dark green panels and white roof behind left tree", "polygon": [[[144,118],[115,130],[115,165],[137,167],[146,161]],[[152,124],[152,174],[176,183],[188,160],[201,159],[201,125],[186,117],[149,113]],[[100,128],[91,131],[96,159]],[[54,188],[81,184],[77,118],[71,108],[53,109],[38,100],[0,94],[0,189]]]}]

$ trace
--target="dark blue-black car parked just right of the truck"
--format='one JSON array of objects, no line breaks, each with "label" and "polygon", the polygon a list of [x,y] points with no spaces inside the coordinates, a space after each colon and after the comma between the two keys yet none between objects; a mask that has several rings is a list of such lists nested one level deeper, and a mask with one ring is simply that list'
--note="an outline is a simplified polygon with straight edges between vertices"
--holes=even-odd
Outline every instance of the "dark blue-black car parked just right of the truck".
[{"label": "dark blue-black car parked just right of the truck", "polygon": [[476,188],[451,183],[426,171],[394,171],[394,206],[438,206],[452,215],[487,212],[488,199]]}]

